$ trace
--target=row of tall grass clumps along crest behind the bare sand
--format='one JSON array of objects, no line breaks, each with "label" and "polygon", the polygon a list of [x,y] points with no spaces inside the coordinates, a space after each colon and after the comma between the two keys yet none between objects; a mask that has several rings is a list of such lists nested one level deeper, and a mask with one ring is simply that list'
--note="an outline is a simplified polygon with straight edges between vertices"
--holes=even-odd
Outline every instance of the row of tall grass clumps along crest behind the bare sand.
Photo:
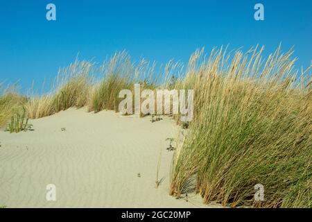
[{"label": "row of tall grass clumps along crest behind the bare sand", "polygon": [[[177,65],[171,62],[165,69],[172,70]],[[115,53],[102,65],[92,62],[78,61],[64,69],[60,69],[51,92],[41,96],[30,96],[25,105],[30,118],[40,118],[55,114],[61,110],[86,106],[89,111],[115,110],[118,112],[119,92],[130,89],[134,95],[134,84],[140,83],[141,89],[156,89],[164,74],[155,74],[155,64],[142,59],[136,65],[131,62],[125,51]]]}]

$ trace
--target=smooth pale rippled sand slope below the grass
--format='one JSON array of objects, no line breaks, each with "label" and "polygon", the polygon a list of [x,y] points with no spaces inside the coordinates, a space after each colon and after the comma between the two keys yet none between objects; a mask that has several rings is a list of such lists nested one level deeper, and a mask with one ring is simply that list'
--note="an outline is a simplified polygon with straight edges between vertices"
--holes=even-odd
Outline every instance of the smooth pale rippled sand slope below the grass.
[{"label": "smooth pale rippled sand slope below the grass", "polygon": [[[32,120],[34,131],[2,130],[0,206],[219,207],[194,194],[188,202],[168,195],[173,152],[165,139],[177,137],[178,127],[163,118],[151,123],[150,117],[69,109]],[[159,178],[165,179],[155,189],[160,148]],[[46,200],[48,184],[56,186],[56,201]]]}]

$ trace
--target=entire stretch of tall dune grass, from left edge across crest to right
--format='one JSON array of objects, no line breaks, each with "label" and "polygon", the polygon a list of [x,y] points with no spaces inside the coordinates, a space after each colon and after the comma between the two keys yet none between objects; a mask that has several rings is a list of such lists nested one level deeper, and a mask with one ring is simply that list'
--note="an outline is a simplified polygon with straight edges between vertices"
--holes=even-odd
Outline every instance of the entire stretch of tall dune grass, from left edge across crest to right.
[{"label": "entire stretch of tall dune grass, from left edge across crest to right", "polygon": [[[277,49],[266,60],[262,51],[221,48],[205,56],[202,49],[187,67],[169,61],[159,69],[131,62],[124,51],[102,65],[76,60],[60,69],[47,94],[3,93],[0,126],[23,106],[31,119],[72,107],[117,112],[119,91],[133,94],[135,83],[141,90],[194,89],[193,121],[173,115],[188,130],[175,148],[170,194],[195,190],[205,203],[232,207],[311,207],[311,74],[297,73],[292,51]],[[256,184],[264,201],[254,200]]]}]

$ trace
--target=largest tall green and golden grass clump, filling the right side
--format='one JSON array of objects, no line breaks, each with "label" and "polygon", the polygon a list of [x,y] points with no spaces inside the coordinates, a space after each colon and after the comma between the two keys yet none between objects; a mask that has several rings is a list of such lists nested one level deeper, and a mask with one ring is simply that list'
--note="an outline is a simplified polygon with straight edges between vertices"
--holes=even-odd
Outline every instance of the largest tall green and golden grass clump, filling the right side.
[{"label": "largest tall green and golden grass clump, filling the right side", "polygon": [[[296,79],[291,51],[262,62],[262,50],[220,49],[190,65],[195,119],[175,152],[171,195],[194,189],[205,203],[311,207],[311,76]],[[262,202],[254,201],[259,183]]]}]

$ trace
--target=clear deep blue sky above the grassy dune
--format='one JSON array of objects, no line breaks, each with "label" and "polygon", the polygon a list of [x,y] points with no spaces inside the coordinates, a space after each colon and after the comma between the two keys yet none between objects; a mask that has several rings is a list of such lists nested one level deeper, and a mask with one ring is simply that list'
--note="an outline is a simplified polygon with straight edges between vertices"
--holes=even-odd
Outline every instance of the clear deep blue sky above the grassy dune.
[{"label": "clear deep blue sky above the grassy dune", "polygon": [[[55,3],[56,21],[46,20],[46,4]],[[254,20],[254,4],[263,3],[265,20]],[[22,87],[53,78],[59,67],[79,58],[101,62],[127,50],[133,60],[187,62],[198,47],[206,51],[255,44],[266,53],[295,46],[297,67],[312,60],[312,1],[96,1],[10,0],[0,3],[0,82]]]}]

